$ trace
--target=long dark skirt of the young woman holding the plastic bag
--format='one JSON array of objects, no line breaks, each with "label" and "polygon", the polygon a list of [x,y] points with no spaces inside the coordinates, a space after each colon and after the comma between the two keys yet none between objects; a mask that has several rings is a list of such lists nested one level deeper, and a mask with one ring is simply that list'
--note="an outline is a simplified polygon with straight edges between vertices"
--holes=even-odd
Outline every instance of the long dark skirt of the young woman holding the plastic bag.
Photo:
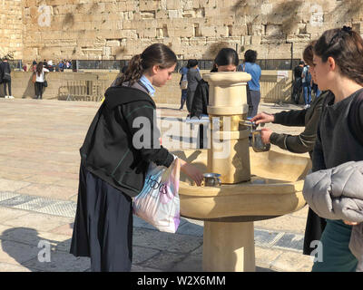
[{"label": "long dark skirt of the young woman holding the plastic bag", "polygon": [[131,270],[132,198],[83,166],[70,252],[90,256],[93,272]]}]

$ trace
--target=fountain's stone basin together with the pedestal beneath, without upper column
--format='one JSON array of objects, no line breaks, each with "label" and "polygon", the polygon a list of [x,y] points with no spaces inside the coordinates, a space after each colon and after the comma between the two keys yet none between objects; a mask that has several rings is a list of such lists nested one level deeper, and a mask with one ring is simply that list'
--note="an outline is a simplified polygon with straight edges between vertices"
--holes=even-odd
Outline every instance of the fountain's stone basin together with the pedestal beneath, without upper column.
[{"label": "fountain's stone basin together with the pedestal beneath, without upper column", "polygon": [[[208,150],[174,151],[207,172]],[[250,149],[250,181],[221,187],[197,187],[181,172],[181,215],[204,220],[204,271],[255,271],[253,221],[276,218],[303,208],[303,179],[309,158]],[[213,172],[221,173],[221,172]]]}]

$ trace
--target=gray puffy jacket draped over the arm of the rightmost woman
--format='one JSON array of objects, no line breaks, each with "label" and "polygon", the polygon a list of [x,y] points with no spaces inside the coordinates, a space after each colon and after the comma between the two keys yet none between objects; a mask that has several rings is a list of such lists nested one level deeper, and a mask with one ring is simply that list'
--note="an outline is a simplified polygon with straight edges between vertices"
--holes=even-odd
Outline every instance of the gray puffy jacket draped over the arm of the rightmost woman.
[{"label": "gray puffy jacket draped over the arm of the rightmost woman", "polygon": [[357,271],[363,271],[363,161],[310,173],[302,193],[319,217],[358,222],[349,249],[358,258]]}]

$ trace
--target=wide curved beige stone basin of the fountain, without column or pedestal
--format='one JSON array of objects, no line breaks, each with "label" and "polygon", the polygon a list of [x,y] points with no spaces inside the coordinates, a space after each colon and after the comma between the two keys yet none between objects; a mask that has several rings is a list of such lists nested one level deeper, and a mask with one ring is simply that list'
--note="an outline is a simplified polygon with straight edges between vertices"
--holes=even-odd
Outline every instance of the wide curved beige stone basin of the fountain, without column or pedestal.
[{"label": "wide curved beige stone basin of the fountain, without column or pedestal", "polygon": [[[207,172],[207,150],[173,153]],[[289,214],[306,204],[302,188],[310,168],[309,158],[300,155],[274,150],[257,153],[250,149],[250,181],[197,187],[181,173],[181,214],[216,221],[251,221]]]}]

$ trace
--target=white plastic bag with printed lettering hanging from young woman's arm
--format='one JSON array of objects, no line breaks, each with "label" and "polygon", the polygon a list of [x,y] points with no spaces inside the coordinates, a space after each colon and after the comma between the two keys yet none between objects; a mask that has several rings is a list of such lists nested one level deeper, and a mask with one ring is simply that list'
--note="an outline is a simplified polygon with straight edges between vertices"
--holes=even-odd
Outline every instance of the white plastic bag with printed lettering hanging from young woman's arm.
[{"label": "white plastic bag with printed lettering hanging from young woman's arm", "polygon": [[133,214],[162,232],[175,233],[181,221],[180,171],[177,158],[168,169],[151,162],[143,189],[133,198]]}]

